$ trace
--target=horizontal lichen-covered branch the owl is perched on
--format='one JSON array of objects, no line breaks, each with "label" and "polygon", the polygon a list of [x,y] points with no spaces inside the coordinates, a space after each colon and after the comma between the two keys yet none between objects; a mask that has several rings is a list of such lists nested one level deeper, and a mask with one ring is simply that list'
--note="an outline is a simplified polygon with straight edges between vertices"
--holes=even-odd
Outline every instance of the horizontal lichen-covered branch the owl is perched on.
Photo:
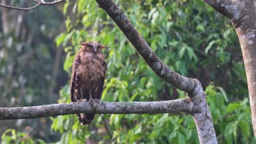
[{"label": "horizontal lichen-covered branch the owl is perched on", "polygon": [[75,113],[197,113],[199,109],[188,99],[154,102],[91,102],[53,104],[29,107],[0,107],[0,119],[26,119],[70,115]]}]

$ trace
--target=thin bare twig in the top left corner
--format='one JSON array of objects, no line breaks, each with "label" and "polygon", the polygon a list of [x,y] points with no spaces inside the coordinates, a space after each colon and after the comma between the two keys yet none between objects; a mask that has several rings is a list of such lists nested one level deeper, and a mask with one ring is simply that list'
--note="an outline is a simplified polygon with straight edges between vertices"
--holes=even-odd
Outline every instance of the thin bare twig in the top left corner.
[{"label": "thin bare twig in the top left corner", "polygon": [[0,7],[9,8],[9,9],[17,9],[17,10],[31,10],[31,9],[39,7],[40,5],[53,5],[53,4],[64,2],[66,0],[57,0],[57,1],[53,1],[53,2],[44,2],[42,0],[32,0],[32,1],[36,2],[37,4],[34,5],[33,7],[28,7],[28,8],[14,7],[14,6],[5,5],[5,4],[0,4]]}]

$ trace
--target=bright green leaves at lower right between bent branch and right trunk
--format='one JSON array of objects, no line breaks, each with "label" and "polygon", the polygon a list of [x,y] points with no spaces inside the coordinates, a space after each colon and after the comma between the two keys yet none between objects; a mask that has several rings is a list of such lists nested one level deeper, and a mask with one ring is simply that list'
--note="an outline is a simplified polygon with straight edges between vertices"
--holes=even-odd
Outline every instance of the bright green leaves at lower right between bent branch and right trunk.
[{"label": "bright green leaves at lower right between bent branch and right trunk", "polygon": [[205,91],[218,142],[255,143],[256,139],[251,136],[253,129],[249,99],[225,103],[225,94],[218,92],[218,89],[219,87],[209,85]]}]

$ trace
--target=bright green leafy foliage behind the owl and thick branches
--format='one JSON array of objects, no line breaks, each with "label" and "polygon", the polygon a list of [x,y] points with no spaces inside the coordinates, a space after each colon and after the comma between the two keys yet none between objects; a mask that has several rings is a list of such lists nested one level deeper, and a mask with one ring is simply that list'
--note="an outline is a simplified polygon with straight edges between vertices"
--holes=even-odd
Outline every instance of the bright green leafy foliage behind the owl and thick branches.
[{"label": "bright green leafy foliage behind the owl and thick branches", "polygon": [[[245,69],[236,33],[228,19],[196,1],[115,1],[153,51],[178,73],[199,79],[219,143],[253,143]],[[184,93],[155,76],[113,21],[93,0],[67,1],[66,32],[56,45],[67,53],[63,69],[71,74],[78,41],[109,45],[103,101],[156,101]],[[215,86],[216,85],[216,86]],[[59,103],[69,103],[69,81]],[[171,115],[96,115],[89,127],[77,116],[51,118],[61,133],[57,143],[199,143],[193,118]],[[34,141],[36,142],[36,141]],[[52,142],[52,141],[50,141]]]}]

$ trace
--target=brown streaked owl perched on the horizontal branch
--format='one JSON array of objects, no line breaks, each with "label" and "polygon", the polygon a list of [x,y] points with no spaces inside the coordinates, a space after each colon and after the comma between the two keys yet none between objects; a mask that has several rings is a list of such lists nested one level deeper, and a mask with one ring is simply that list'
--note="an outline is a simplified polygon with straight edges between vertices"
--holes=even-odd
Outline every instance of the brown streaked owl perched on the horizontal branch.
[{"label": "brown streaked owl perched on the horizontal branch", "polygon": [[[95,41],[80,42],[82,47],[72,64],[70,97],[72,102],[101,99],[106,62],[102,49],[106,46]],[[89,125],[95,113],[77,113],[80,124]]]}]

